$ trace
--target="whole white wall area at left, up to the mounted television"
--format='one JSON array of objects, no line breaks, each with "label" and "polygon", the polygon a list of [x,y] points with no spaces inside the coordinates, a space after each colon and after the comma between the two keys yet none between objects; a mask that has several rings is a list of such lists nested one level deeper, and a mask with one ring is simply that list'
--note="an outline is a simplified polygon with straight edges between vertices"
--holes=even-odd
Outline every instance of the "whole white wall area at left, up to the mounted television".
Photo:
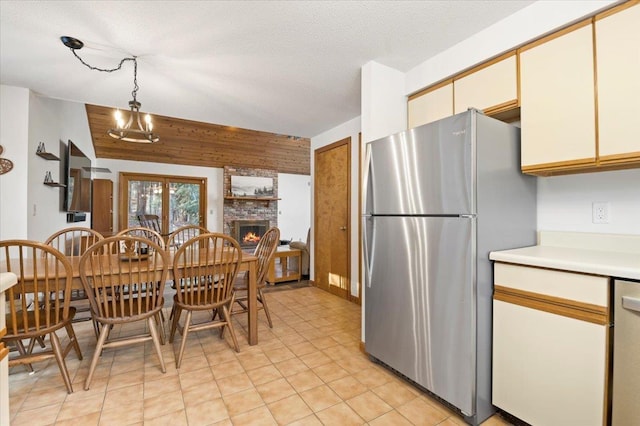
[{"label": "whole white wall area at left, up to the mounted television", "polygon": [[64,173],[60,174],[62,162],[44,160],[36,149],[44,142],[47,151],[60,156],[60,141],[72,139],[91,158],[86,112],[83,104],[44,98],[28,89],[3,85],[1,90],[0,144],[14,170],[0,177],[0,238],[43,241],[67,226],[61,209],[63,189],[45,186],[44,175],[51,171],[55,181],[63,181]]}]

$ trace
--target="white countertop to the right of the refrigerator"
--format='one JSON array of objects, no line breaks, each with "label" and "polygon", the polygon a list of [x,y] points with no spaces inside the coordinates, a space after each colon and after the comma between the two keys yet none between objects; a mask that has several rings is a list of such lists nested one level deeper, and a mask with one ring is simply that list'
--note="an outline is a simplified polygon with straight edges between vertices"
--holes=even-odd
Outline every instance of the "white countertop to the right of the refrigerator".
[{"label": "white countertop to the right of the refrigerator", "polygon": [[[584,235],[580,235],[580,238],[573,239],[579,242],[577,246],[567,242],[571,238],[559,240],[555,236],[554,238],[546,237],[548,236],[541,233],[541,244],[536,246],[491,252],[489,259],[640,280],[640,251],[637,250],[640,247],[640,236],[637,244],[635,237],[631,237],[630,241],[629,236],[621,236],[625,239],[625,244],[616,245],[611,242],[612,237],[615,242],[617,236],[591,234],[588,238],[593,244],[588,244],[585,243]],[[628,244],[629,242],[632,244]]]}]

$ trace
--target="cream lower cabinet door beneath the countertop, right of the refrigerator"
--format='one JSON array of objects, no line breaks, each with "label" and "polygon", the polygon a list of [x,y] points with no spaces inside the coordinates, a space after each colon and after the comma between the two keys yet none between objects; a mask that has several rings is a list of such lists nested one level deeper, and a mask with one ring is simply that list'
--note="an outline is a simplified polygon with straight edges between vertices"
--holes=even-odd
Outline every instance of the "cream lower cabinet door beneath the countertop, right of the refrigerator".
[{"label": "cream lower cabinet door beneath the countertop, right of the refrigerator", "polygon": [[494,300],[492,403],[532,425],[604,421],[607,329]]}]

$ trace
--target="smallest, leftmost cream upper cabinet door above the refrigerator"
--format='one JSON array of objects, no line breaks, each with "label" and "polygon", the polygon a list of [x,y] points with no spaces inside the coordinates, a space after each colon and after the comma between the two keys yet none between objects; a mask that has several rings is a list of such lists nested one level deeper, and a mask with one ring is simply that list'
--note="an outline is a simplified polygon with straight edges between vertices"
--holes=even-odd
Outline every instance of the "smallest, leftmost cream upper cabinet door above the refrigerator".
[{"label": "smallest, leftmost cream upper cabinet door above the refrigerator", "polygon": [[407,109],[409,129],[453,115],[453,83],[409,99]]}]

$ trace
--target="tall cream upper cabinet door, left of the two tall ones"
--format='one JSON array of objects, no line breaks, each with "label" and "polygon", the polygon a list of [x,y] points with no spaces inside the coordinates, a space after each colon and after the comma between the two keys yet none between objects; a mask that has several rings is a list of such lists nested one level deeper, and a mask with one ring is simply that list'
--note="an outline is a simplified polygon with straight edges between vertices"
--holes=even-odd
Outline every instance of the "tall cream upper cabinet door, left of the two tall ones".
[{"label": "tall cream upper cabinet door, left of the two tall ones", "polygon": [[523,172],[595,164],[592,25],[580,25],[520,54]]}]

